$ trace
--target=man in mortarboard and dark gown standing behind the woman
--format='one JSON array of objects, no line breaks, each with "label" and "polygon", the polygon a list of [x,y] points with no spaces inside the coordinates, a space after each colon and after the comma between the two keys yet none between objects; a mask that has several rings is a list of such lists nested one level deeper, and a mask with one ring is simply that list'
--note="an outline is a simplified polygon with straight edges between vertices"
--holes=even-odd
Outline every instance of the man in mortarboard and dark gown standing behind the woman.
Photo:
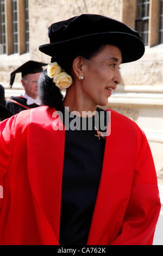
[{"label": "man in mortarboard and dark gown standing behind the woman", "polygon": [[37,82],[43,71],[42,66],[45,65],[47,64],[29,60],[11,73],[10,87],[12,87],[14,83],[16,73],[21,73],[21,83],[24,88],[24,93],[21,96],[12,96],[6,100],[6,106],[13,114],[41,105],[38,96]]}]

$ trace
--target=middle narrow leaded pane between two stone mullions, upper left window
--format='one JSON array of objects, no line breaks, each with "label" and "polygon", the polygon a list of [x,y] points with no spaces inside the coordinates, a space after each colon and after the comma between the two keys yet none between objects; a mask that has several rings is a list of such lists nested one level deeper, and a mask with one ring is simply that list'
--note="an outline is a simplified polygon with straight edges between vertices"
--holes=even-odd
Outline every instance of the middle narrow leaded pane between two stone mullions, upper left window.
[{"label": "middle narrow leaded pane between two stone mullions, upper left window", "polygon": [[13,53],[18,52],[17,0],[12,0]]}]

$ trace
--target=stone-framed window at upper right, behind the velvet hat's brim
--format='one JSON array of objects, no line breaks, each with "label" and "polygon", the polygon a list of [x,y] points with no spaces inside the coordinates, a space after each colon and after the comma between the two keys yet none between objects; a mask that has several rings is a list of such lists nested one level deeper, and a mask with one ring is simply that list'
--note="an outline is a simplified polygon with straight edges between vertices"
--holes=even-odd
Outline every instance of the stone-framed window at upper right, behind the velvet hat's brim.
[{"label": "stone-framed window at upper right, behind the velvet hat's brim", "polygon": [[122,22],[138,31],[145,45],[163,43],[163,0],[123,0],[122,7]]}]

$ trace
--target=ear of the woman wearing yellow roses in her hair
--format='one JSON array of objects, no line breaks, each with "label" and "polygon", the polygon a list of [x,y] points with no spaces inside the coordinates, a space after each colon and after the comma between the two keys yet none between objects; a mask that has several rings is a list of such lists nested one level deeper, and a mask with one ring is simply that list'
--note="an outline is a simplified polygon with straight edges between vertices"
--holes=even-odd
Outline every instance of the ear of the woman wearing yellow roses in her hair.
[{"label": "ear of the woman wearing yellow roses in her hair", "polygon": [[73,60],[72,69],[74,75],[78,78],[79,76],[84,76],[85,71],[85,58],[78,56]]}]

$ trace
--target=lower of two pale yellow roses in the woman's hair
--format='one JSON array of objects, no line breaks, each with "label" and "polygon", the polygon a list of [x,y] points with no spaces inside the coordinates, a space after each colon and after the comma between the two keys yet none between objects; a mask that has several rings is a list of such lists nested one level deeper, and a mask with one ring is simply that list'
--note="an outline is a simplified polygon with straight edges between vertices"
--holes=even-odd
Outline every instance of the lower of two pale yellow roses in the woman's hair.
[{"label": "lower of two pale yellow roses in the woman's hair", "polygon": [[67,89],[72,84],[72,78],[66,72],[54,76],[53,82],[59,89]]}]

